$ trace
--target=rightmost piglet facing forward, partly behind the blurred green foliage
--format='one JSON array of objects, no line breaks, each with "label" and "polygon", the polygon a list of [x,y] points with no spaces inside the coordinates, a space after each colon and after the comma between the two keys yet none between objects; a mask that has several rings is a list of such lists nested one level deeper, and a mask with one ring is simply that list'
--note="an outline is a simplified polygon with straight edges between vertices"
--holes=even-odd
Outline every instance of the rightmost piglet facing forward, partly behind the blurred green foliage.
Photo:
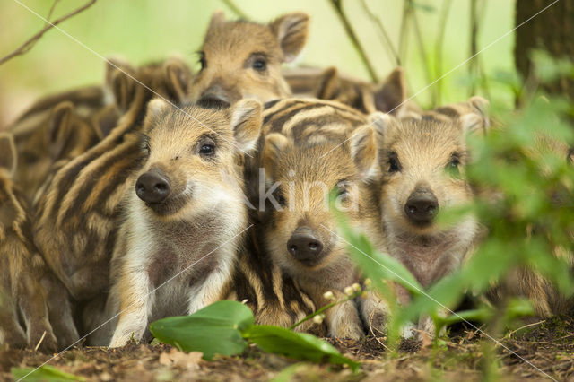
[{"label": "rightmost piglet facing forward, partly behind the blurred green foliage", "polygon": [[[474,199],[464,176],[470,161],[468,133],[488,126],[486,100],[474,97],[451,117],[387,118],[380,124],[380,208],[387,251],[427,287],[463,264],[482,231],[473,215],[448,226],[440,209]],[[423,317],[424,318],[424,317]],[[421,329],[431,330],[428,317]]]}]

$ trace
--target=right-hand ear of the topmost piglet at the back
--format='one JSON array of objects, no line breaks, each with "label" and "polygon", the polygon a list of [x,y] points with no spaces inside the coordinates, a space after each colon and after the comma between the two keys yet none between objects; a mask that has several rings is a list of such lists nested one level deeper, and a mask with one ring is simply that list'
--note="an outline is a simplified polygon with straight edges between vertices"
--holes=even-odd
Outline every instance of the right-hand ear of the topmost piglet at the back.
[{"label": "right-hand ear of the topmost piglet at the back", "polygon": [[305,47],[309,33],[309,14],[288,13],[269,25],[279,40],[283,62],[291,62]]}]

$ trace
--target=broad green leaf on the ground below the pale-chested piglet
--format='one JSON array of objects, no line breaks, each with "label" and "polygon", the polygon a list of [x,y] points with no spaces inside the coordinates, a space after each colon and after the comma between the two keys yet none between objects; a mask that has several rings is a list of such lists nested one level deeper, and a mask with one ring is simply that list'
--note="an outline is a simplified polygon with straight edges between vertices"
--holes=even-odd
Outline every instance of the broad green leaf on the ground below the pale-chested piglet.
[{"label": "broad green leaf on the ground below the pale-chested piglet", "polygon": [[254,322],[251,309],[238,301],[222,300],[191,316],[155,321],[150,330],[162,343],[170,343],[186,352],[203,352],[204,359],[211,360],[216,353],[243,352],[247,343],[240,332]]}]

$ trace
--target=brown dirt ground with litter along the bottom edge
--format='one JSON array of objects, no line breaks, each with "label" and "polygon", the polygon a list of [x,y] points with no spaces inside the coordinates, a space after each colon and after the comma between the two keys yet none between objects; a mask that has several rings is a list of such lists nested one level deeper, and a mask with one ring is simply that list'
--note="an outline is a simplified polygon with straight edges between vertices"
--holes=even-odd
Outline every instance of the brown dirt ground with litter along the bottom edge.
[{"label": "brown dirt ground with litter along the bottom edge", "polygon": [[[129,344],[120,349],[74,348],[53,355],[32,351],[0,352],[0,380],[13,380],[12,368],[48,364],[88,381],[168,380],[479,380],[485,364],[481,335],[459,327],[437,348],[404,340],[396,356],[381,339],[329,339],[361,370],[315,365],[250,348],[241,356],[201,360],[201,353],[184,353],[163,344]],[[574,380],[574,319],[556,317],[509,332],[495,345],[493,357],[502,380]],[[52,360],[50,360],[52,359]],[[529,364],[529,363],[530,364]]]}]

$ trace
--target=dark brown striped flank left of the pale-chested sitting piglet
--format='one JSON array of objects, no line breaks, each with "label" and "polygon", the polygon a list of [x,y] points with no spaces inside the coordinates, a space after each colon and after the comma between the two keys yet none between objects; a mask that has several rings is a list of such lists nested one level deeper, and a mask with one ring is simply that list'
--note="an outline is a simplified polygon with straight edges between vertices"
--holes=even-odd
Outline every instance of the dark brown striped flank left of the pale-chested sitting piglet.
[{"label": "dark brown striped flank left of the pale-chested sitting piglet", "polygon": [[141,165],[143,116],[154,95],[149,89],[178,102],[181,94],[172,90],[188,83],[185,77],[170,76],[170,65],[147,65],[135,72],[144,86],[135,85],[129,109],[117,126],[89,151],[57,163],[34,202],[34,241],[75,300],[91,299],[108,289],[118,205],[126,178]]}]

